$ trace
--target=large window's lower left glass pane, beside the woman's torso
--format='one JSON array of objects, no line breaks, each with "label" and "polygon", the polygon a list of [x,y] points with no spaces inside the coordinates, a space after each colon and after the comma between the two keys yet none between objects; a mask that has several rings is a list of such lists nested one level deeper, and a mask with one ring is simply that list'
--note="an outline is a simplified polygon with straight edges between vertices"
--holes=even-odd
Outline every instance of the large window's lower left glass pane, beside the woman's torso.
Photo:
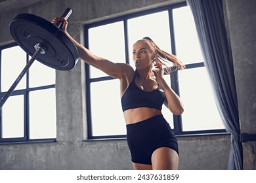
[{"label": "large window's lower left glass pane, beside the woman's torso", "polygon": [[119,80],[91,83],[93,136],[125,135]]}]

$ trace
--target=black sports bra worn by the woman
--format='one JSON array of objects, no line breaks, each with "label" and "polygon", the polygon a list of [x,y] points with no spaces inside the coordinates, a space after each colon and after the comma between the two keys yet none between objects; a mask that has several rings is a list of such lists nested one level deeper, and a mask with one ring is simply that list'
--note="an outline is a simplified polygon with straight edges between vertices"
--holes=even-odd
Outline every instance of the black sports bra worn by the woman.
[{"label": "black sports bra worn by the woman", "polygon": [[165,94],[160,90],[160,86],[151,92],[145,92],[139,89],[135,83],[135,78],[129,84],[127,90],[121,97],[121,106],[123,112],[127,109],[138,107],[149,107],[161,110],[165,101]]}]

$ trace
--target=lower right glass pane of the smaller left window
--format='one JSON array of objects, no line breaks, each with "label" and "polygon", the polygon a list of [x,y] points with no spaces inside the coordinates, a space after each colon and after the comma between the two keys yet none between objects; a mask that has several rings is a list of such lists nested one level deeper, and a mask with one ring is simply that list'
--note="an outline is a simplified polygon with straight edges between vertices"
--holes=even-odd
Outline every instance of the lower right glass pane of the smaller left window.
[{"label": "lower right glass pane of the smaller left window", "polygon": [[30,139],[56,138],[55,88],[30,92]]}]

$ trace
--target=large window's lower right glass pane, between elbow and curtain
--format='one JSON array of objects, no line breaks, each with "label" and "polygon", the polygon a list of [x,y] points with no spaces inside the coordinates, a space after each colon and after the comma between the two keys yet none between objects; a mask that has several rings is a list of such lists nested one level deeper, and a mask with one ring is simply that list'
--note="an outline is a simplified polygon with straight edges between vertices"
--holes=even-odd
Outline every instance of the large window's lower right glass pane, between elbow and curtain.
[{"label": "large window's lower right glass pane, between elbow and curtain", "polygon": [[183,131],[224,129],[205,67],[179,71]]}]

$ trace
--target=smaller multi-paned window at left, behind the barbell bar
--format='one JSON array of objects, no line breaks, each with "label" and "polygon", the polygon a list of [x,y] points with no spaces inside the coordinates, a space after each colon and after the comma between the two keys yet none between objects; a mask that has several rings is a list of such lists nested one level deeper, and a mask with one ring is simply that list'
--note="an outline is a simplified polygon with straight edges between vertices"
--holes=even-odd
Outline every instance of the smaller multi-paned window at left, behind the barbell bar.
[{"label": "smaller multi-paned window at left, behind the barbell bar", "polygon": [[[16,44],[0,53],[3,97],[31,57]],[[54,141],[55,100],[55,70],[34,61],[1,109],[0,142]]]}]

